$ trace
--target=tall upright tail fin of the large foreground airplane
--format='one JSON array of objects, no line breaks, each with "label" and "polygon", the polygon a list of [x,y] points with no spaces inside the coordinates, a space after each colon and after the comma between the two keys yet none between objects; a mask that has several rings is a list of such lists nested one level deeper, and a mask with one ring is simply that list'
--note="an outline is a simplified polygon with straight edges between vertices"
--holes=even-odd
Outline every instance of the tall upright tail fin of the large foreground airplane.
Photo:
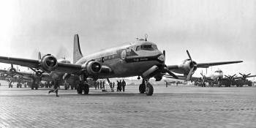
[{"label": "tall upright tail fin of the large foreground airplane", "polygon": [[78,34],[75,34],[74,37],[74,49],[73,49],[73,64],[75,64],[79,59],[83,57],[83,54],[80,50],[80,42]]}]

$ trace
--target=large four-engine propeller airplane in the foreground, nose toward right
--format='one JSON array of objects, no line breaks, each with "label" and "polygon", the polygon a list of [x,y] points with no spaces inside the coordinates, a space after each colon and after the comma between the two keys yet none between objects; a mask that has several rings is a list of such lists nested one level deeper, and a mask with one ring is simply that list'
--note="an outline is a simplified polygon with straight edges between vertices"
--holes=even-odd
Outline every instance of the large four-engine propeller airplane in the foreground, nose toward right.
[{"label": "large four-engine propeller airplane in the foreground, nose toward right", "polygon": [[151,96],[154,88],[149,83],[150,78],[157,81],[162,80],[166,73],[178,78],[173,72],[187,76],[190,80],[197,68],[207,68],[210,66],[240,63],[242,61],[224,61],[214,63],[196,63],[187,50],[189,59],[184,60],[182,64],[166,65],[165,50],[158,50],[154,42],[145,39],[138,39],[127,45],[116,48],[110,48],[83,56],[80,50],[78,34],[75,34],[73,49],[73,64],[62,63],[51,54],[46,54],[42,59],[20,59],[0,56],[1,63],[17,64],[23,67],[30,67],[36,72],[41,69],[43,72],[60,72],[64,74],[63,78],[68,79],[70,75],[79,77],[78,94],[89,93],[89,80],[99,78],[127,78],[132,76],[142,77],[142,83],[139,86],[140,93]]}]

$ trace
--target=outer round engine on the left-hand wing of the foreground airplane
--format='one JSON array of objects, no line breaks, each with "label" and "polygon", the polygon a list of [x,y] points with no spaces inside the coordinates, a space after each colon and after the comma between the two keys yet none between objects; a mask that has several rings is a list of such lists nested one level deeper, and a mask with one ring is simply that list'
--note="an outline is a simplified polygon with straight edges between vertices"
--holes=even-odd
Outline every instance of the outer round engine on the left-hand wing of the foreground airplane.
[{"label": "outer round engine on the left-hand wing of the foreground airplane", "polygon": [[58,61],[53,55],[47,54],[42,56],[41,69],[45,72],[51,72],[58,66]]}]

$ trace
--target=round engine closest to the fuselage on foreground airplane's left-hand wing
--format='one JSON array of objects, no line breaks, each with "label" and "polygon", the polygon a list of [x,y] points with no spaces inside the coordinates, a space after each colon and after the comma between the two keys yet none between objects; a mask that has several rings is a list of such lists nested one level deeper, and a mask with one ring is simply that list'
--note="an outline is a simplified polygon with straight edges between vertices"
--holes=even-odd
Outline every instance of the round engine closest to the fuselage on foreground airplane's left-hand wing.
[{"label": "round engine closest to the fuselage on foreground airplane's left-hand wing", "polygon": [[102,69],[102,65],[99,64],[99,62],[94,60],[86,61],[86,63],[83,64],[82,67],[83,67],[83,72],[88,75],[97,75]]}]

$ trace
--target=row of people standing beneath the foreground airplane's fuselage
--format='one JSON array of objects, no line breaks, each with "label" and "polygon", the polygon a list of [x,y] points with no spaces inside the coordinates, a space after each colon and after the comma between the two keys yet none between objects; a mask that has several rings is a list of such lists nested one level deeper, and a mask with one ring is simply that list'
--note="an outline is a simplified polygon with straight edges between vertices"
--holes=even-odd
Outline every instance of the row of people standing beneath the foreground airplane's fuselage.
[{"label": "row of people standing beneath the foreground airplane's fuselage", "polygon": [[[127,83],[123,80],[117,80],[117,87],[116,87],[116,91],[125,91],[125,86],[127,85]],[[114,91],[115,89],[115,82],[110,82],[109,83],[109,86],[110,86],[110,89],[111,91]],[[95,87],[95,90],[97,89],[102,89],[102,91],[105,91],[105,80],[99,80],[96,82],[96,84],[94,84],[94,87]]]}]

